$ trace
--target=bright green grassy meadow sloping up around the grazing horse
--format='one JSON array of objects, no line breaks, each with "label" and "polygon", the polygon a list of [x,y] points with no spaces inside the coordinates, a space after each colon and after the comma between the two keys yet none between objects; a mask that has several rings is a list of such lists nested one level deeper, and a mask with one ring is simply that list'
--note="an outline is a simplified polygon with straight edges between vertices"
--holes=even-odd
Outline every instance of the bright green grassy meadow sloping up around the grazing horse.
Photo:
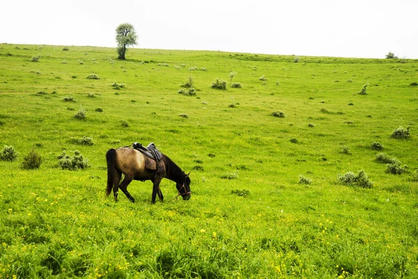
[{"label": "bright green grassy meadow sloping up around the grazing horse", "polygon": [[[0,278],[418,278],[418,60],[116,57],[0,45],[0,150],[18,153],[0,160]],[[164,202],[150,181],[106,197],[105,154],[133,142],[191,172],[192,198],[167,179]]]}]

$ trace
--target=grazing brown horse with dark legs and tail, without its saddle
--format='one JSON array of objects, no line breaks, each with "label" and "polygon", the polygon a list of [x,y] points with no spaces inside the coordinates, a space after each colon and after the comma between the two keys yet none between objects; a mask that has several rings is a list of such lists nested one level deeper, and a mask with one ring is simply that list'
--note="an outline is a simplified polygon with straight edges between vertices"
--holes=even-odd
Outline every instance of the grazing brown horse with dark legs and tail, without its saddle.
[{"label": "grazing brown horse with dark legs and tail, without its saddle", "polygon": [[[121,147],[119,149],[109,149],[106,153],[107,160],[107,189],[106,195],[109,196],[111,189],[114,191],[115,202],[118,201],[118,189],[131,201],[135,202],[134,197],[127,192],[127,186],[132,180],[150,180],[153,181],[152,202],[155,203],[155,197],[158,194],[160,201],[163,196],[160,189],[161,180],[166,177],[176,182],[178,196],[183,199],[190,199],[190,178],[189,174],[185,174],[169,157],[162,154],[162,162],[164,163],[164,172],[156,172],[146,169],[144,154],[130,147]],[[122,174],[124,179],[121,182]],[[121,183],[120,183],[121,182]],[[119,184],[120,183],[120,184]],[[177,197],[178,197],[177,196]]]}]

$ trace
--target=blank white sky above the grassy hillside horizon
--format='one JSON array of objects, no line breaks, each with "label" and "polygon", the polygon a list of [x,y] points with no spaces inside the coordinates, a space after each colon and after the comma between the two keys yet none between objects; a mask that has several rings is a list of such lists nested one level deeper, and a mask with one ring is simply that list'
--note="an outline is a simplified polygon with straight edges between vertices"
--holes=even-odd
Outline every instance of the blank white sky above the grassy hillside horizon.
[{"label": "blank white sky above the grassy hillside horizon", "polygon": [[418,59],[418,0],[10,0],[0,43]]}]

